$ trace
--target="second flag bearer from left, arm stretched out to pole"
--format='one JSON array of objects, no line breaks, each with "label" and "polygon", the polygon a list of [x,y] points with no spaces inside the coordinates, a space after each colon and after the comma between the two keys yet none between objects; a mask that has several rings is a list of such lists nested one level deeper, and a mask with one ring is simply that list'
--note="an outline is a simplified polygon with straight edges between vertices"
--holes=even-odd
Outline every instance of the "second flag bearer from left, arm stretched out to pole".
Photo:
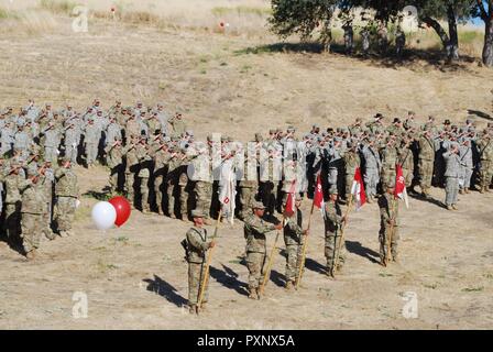
[{"label": "second flag bearer from left, arm stretched out to pole", "polygon": [[265,207],[262,202],[253,204],[253,213],[244,219],[244,238],[246,240],[246,267],[249,268],[249,298],[260,299],[259,286],[265,263],[265,233],[281,230],[283,224],[269,223],[262,219]]}]

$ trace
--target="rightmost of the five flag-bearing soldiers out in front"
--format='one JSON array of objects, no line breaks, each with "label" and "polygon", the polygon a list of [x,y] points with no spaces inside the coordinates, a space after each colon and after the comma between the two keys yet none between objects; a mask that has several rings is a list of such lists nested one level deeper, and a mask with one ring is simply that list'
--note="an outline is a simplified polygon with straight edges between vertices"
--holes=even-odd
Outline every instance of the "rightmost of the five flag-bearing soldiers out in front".
[{"label": "rightmost of the five flag-bearing soldiers out in front", "polygon": [[[386,185],[385,193],[379,198],[380,207],[380,261],[386,266],[392,253],[392,260],[397,262],[397,241],[398,237],[398,201],[394,196],[394,184]],[[391,253],[388,253],[388,248]]]}]

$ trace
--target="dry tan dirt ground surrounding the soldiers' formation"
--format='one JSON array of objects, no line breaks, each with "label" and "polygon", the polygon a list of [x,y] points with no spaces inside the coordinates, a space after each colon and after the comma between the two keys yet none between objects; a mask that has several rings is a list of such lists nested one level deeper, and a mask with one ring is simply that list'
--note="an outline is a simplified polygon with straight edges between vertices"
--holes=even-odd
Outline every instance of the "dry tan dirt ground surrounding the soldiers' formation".
[{"label": "dry tan dirt ground surrounding the soldiers' formation", "polygon": [[[223,132],[242,141],[270,127],[342,125],[375,112],[388,118],[415,110],[420,119],[463,120],[468,109],[491,110],[493,73],[465,64],[453,70],[426,63],[383,67],[339,55],[244,54],[264,43],[199,31],[155,31],[95,23],[67,31],[0,38],[1,106],[28,98],[78,108],[116,97],[133,105],[165,102],[188,109],[197,135]],[[65,25],[64,24],[64,25]],[[491,112],[490,112],[491,113]],[[487,119],[476,118],[480,125]],[[77,168],[81,189],[100,191],[107,170]],[[443,191],[434,196],[442,200]],[[456,212],[410,200],[402,209],[402,264],[375,264],[379,210],[352,213],[343,274],[322,274],[322,221],[314,215],[303,287],[285,293],[284,257],[276,254],[266,296],[245,296],[240,263],[242,224],[219,233],[210,305],[200,317],[182,306],[187,265],[179,241],[190,223],[132,213],[118,230],[94,229],[84,197],[76,235],[44,242],[28,263],[0,243],[0,328],[3,329],[487,329],[493,327],[493,194],[461,196]],[[304,204],[308,216],[308,201]],[[305,219],[306,219],[305,218]],[[272,233],[271,242],[274,233]],[[280,245],[280,250],[283,245]],[[75,292],[88,297],[88,317],[73,317]],[[402,315],[405,293],[416,293],[418,318]]]}]

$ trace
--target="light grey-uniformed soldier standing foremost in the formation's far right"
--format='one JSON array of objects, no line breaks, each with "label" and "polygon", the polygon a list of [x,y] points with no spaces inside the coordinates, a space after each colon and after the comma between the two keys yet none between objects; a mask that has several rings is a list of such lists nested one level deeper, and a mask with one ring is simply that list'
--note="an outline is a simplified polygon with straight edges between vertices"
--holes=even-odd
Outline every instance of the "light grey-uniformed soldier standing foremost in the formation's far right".
[{"label": "light grey-uniformed soldier standing foremost in the formation's far right", "polygon": [[445,204],[448,210],[458,210],[457,197],[459,194],[459,176],[461,173],[459,145],[453,143],[450,150],[443,153],[445,158]]}]

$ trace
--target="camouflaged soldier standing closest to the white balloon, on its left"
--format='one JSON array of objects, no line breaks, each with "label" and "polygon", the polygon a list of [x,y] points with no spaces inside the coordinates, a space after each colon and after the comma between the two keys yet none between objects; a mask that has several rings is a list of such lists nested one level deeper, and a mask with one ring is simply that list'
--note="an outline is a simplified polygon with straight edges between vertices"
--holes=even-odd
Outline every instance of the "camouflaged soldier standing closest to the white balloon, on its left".
[{"label": "camouflaged soldier standing closest to the white balloon, on its left", "polygon": [[63,158],[61,167],[55,172],[55,223],[61,237],[72,235],[79,188],[77,175],[72,169],[70,160]]}]

